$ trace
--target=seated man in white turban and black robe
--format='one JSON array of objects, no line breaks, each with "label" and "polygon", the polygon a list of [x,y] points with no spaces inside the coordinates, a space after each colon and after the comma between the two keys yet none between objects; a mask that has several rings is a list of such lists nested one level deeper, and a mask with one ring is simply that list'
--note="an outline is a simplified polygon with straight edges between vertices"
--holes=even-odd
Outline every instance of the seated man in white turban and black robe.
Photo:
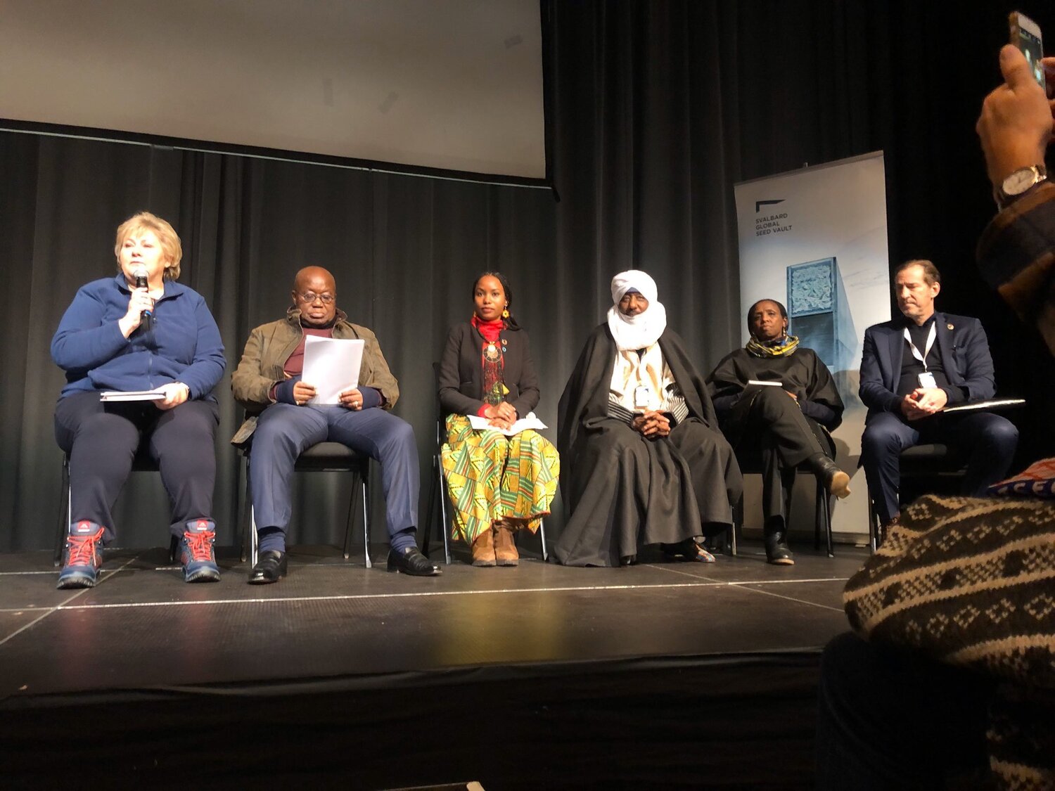
[{"label": "seated man in white turban and black robe", "polygon": [[570,516],[554,554],[567,565],[608,566],[659,544],[712,561],[694,537],[729,527],[743,487],[736,459],[703,377],[667,329],[652,277],[620,272],[612,302],[560,398],[560,486]]}]

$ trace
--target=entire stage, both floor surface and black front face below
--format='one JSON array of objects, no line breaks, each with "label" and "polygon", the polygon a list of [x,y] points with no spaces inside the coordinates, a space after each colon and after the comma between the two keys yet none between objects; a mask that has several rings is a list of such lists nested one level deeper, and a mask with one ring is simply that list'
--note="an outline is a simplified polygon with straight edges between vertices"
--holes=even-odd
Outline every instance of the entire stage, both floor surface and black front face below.
[{"label": "entire stage, both floor surface and black front face below", "polygon": [[295,547],[266,586],[229,548],[203,585],[115,549],[74,592],[47,553],[3,556],[0,785],[808,789],[820,650],[866,555],[793,548],[415,578]]}]

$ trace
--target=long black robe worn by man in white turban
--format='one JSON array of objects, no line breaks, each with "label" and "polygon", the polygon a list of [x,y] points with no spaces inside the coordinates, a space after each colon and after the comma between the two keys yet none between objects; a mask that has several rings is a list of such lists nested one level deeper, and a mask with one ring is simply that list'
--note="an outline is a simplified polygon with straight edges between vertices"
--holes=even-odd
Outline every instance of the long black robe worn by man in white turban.
[{"label": "long black robe worn by man in white turban", "polygon": [[615,341],[608,324],[587,340],[557,408],[560,490],[570,513],[554,555],[565,565],[618,565],[637,547],[676,543],[728,525],[743,479],[682,339],[659,336],[689,417],[646,439],[608,417]]}]

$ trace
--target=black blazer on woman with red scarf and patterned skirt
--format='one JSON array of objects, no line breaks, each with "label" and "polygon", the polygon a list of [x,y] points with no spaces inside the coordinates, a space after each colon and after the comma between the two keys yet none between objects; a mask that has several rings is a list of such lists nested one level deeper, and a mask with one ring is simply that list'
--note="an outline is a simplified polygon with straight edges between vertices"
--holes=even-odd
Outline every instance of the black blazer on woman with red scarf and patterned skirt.
[{"label": "black blazer on woman with red scarf and patterned skirt", "polygon": [[[514,327],[499,333],[502,344],[502,379],[507,401],[517,417],[526,417],[538,405],[538,375],[531,361],[528,333]],[[456,324],[447,333],[447,346],[440,361],[440,406],[445,413],[476,414],[483,406],[483,366],[480,353],[483,336],[468,322]]]}]

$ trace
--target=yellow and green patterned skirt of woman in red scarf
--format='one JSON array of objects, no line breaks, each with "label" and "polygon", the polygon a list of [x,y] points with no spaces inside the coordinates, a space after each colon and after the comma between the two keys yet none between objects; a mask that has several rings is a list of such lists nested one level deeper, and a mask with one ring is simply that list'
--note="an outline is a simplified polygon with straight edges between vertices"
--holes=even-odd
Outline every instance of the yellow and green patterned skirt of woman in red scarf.
[{"label": "yellow and green patterned skirt of woman in red scarf", "polygon": [[466,543],[495,519],[525,519],[538,529],[557,493],[557,448],[537,431],[513,437],[474,430],[464,414],[447,417],[447,441],[440,449],[447,491],[455,506],[455,535]]}]

